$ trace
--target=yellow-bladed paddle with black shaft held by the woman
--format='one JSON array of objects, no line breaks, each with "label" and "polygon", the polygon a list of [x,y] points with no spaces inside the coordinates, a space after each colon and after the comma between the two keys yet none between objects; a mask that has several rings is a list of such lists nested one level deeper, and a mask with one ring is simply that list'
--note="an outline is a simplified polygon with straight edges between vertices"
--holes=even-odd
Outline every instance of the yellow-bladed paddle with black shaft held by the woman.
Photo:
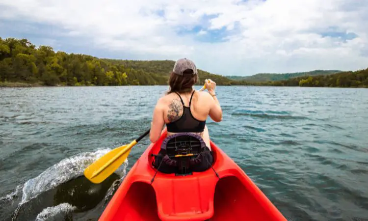
[{"label": "yellow-bladed paddle with black shaft held by the woman", "polygon": [[[206,89],[206,85],[204,85],[200,91]],[[134,139],[128,145],[123,145],[117,147],[110,152],[106,153],[100,159],[89,165],[84,169],[84,176],[89,179],[92,183],[101,183],[104,181],[109,175],[111,175],[124,161],[128,158],[129,153],[131,152],[131,148],[139,142],[142,138],[146,137],[150,133],[150,129],[148,129],[144,134],[142,134],[139,138]]]}]

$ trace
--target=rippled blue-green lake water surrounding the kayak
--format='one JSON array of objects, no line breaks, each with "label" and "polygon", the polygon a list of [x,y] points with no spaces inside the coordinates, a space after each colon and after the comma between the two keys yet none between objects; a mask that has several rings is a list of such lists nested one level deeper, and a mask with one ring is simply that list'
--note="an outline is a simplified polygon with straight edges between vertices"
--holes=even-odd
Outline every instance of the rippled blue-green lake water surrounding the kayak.
[{"label": "rippled blue-green lake water surrounding the kayak", "polygon": [[[0,88],[0,220],[96,221],[148,136],[101,185],[83,169],[146,131],[166,89]],[[368,89],[217,93],[223,121],[208,121],[211,139],[288,220],[368,219]]]}]

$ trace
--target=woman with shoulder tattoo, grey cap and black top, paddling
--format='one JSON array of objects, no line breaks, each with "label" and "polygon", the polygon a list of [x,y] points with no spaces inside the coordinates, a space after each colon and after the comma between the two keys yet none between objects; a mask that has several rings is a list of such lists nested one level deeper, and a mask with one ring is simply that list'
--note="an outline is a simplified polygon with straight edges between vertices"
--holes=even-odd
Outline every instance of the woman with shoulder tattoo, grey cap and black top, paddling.
[{"label": "woman with shoulder tattoo, grey cap and black top, paddling", "polygon": [[195,133],[211,150],[206,119],[210,116],[213,121],[220,122],[222,110],[215,94],[216,83],[206,80],[208,92],[201,92],[193,88],[197,81],[197,68],[193,61],[183,58],[175,62],[170,74],[169,91],[158,100],[153,113],[151,142],[158,140],[166,124],[167,136],[183,132]]}]

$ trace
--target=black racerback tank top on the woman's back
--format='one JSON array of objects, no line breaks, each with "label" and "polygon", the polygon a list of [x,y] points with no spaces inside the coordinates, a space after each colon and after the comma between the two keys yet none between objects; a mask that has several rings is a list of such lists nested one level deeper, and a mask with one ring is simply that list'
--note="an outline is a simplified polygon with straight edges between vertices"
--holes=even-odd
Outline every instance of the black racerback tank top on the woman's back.
[{"label": "black racerback tank top on the woman's back", "polygon": [[175,92],[182,101],[183,104],[183,115],[168,124],[166,124],[167,132],[171,133],[200,133],[205,130],[206,120],[200,121],[194,118],[192,115],[192,112],[190,111],[190,104],[192,103],[193,94],[195,91],[193,91],[192,95],[190,96],[189,100],[189,107],[184,106],[184,102],[180,94]]}]

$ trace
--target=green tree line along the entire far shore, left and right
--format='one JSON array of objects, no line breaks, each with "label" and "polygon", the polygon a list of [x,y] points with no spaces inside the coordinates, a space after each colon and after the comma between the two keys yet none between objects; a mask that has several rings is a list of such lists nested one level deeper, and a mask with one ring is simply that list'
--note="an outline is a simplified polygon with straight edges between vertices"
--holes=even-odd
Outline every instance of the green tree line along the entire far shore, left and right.
[{"label": "green tree line along the entire far shore, left and right", "polygon": [[[34,85],[166,85],[172,60],[118,60],[91,55],[54,52],[36,47],[27,39],[0,37],[0,86],[6,83]],[[254,82],[229,79],[198,70],[199,82],[212,79],[217,85],[368,87],[368,69],[326,75],[301,76],[282,81]],[[268,76],[268,75],[267,75]]]}]

